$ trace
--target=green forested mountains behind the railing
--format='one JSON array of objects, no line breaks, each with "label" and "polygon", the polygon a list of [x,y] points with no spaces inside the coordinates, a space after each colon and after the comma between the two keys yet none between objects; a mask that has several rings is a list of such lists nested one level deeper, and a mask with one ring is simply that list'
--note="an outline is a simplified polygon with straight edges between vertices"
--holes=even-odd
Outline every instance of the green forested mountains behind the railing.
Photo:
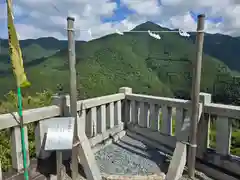
[{"label": "green forested mountains behind the railing", "polygon": [[[169,30],[152,22],[134,28],[139,31],[149,29]],[[177,33],[159,35],[161,40],[147,33],[127,32],[124,36],[111,34],[89,42],[76,42],[78,90],[82,98],[116,92],[120,86],[130,86],[140,93],[189,98],[192,61],[195,59],[194,35],[192,39]],[[208,35],[205,40],[207,38]],[[7,41],[3,40],[4,43],[3,48],[7,49]],[[25,93],[46,88],[56,91],[60,86],[68,91],[66,41],[54,38],[23,40],[21,47],[25,69],[32,82]],[[4,88],[0,88],[0,95],[15,86],[10,63],[6,60],[7,51],[3,52],[0,56],[0,84]],[[238,92],[226,91],[233,82],[233,72],[224,63],[224,56],[218,58],[212,54],[205,51],[203,55],[201,90],[213,93],[217,101],[230,101]],[[220,76],[229,83],[221,84]]]}]

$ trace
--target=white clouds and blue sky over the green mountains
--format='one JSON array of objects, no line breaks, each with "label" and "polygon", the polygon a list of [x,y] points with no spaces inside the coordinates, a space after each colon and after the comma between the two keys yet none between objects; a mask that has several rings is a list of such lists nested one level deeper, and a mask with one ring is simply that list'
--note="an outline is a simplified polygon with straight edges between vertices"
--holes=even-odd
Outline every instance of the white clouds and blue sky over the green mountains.
[{"label": "white clouds and blue sky over the green mountains", "polygon": [[[89,40],[87,30],[93,38],[120,31],[130,30],[147,20],[169,28],[194,31],[196,22],[189,11],[204,12],[208,17],[222,17],[223,22],[206,21],[210,33],[240,35],[240,3],[237,0],[121,0],[121,5],[134,11],[120,22],[102,22],[111,17],[117,8],[114,0],[18,0],[13,1],[17,30],[21,39],[54,36],[66,39],[66,17],[75,17],[76,37]],[[161,2],[161,4],[160,4]],[[5,18],[6,5],[0,5],[0,23]],[[4,27],[3,27],[4,28]],[[3,32],[1,27],[0,32]],[[7,29],[7,27],[5,27]],[[80,29],[82,31],[80,31]],[[6,34],[6,33],[3,33]],[[2,34],[0,34],[2,35]]]}]

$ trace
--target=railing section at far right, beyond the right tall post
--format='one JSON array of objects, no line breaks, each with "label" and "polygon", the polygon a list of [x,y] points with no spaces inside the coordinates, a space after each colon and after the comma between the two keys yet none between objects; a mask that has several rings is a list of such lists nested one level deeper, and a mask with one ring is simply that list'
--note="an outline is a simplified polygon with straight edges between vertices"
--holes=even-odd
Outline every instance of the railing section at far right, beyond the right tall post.
[{"label": "railing section at far right, beyond the right tall post", "polygon": [[[231,173],[240,176],[240,157],[232,155],[231,137],[232,137],[232,122],[240,120],[240,107],[208,103],[204,106],[205,119],[202,125],[202,137],[205,136],[205,141],[201,141],[201,147],[205,147],[205,153],[202,158],[205,162],[212,163],[218,167],[228,170]],[[216,127],[216,147],[209,149],[209,134],[210,134],[210,117],[214,118]],[[207,136],[207,138],[206,138]],[[204,152],[204,151],[202,151]]]}]

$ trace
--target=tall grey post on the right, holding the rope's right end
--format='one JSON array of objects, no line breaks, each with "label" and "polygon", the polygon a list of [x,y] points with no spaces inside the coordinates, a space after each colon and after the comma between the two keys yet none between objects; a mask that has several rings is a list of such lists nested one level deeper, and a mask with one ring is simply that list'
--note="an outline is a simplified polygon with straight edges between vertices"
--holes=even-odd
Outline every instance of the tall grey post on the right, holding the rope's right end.
[{"label": "tall grey post on the right, holding the rope's right end", "polygon": [[195,174],[195,161],[197,151],[197,125],[198,125],[198,113],[199,113],[199,93],[201,82],[201,68],[202,68],[202,52],[203,52],[203,40],[204,40],[204,19],[205,15],[200,14],[198,16],[197,24],[197,37],[196,37],[196,61],[193,63],[193,78],[192,78],[192,111],[191,111],[191,126],[190,126],[190,147],[188,156],[188,175],[190,178],[194,178]]}]

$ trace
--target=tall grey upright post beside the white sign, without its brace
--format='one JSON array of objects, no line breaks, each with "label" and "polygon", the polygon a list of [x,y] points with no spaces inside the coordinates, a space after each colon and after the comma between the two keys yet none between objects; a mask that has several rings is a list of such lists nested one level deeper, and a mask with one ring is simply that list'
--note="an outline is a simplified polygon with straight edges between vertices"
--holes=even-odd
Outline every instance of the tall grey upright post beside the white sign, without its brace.
[{"label": "tall grey upright post beside the white sign, without its brace", "polygon": [[[76,55],[75,55],[75,40],[74,40],[74,18],[67,18],[68,32],[68,59],[70,70],[70,114],[75,118],[73,143],[77,140],[77,82],[76,82]],[[78,176],[78,149],[72,149],[72,179],[76,180]]]}]

